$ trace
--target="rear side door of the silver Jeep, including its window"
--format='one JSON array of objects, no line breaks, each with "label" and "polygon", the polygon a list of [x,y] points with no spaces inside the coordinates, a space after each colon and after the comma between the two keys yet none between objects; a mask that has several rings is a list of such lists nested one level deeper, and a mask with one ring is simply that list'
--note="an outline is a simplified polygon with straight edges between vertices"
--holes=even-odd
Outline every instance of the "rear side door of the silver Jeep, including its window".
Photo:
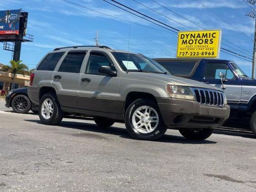
[{"label": "rear side door of the silver Jeep, including its window", "polygon": [[61,106],[77,108],[77,96],[82,63],[87,51],[71,50],[53,74],[52,86]]}]

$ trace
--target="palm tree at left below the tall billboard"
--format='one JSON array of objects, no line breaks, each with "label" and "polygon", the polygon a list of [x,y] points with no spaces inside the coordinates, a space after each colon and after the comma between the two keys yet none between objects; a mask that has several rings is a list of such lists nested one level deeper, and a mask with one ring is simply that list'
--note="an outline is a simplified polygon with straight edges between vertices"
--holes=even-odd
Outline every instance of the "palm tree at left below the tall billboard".
[{"label": "palm tree at left below the tall billboard", "polygon": [[11,90],[13,90],[14,78],[15,78],[16,74],[26,75],[28,73],[29,68],[24,63],[22,63],[22,60],[18,60],[18,61],[11,60],[10,64],[11,64],[11,66],[3,66],[3,71],[12,73],[12,88],[11,88]]}]

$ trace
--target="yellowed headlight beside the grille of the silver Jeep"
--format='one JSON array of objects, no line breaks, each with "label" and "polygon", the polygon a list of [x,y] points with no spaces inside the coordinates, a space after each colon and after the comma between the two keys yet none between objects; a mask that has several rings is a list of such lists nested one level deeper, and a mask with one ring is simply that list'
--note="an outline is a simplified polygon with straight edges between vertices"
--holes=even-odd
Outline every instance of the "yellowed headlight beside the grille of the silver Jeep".
[{"label": "yellowed headlight beside the grille of the silver Jeep", "polygon": [[177,99],[187,99],[187,100],[195,100],[194,94],[191,88],[186,86],[172,86],[168,85],[166,87],[167,93],[172,98]]}]

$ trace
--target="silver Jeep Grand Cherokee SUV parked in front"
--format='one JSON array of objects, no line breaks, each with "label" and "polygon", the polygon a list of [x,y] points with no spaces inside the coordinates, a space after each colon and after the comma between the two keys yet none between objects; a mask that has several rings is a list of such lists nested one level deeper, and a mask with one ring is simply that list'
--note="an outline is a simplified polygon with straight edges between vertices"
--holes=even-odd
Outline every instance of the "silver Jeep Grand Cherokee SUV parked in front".
[{"label": "silver Jeep Grand Cherokee SUV parked in front", "polygon": [[80,113],[99,126],[124,122],[131,136],[145,140],[159,139],[168,128],[188,139],[206,139],[230,111],[221,90],[174,77],[141,54],[106,46],[48,53],[31,75],[28,95],[44,124]]}]

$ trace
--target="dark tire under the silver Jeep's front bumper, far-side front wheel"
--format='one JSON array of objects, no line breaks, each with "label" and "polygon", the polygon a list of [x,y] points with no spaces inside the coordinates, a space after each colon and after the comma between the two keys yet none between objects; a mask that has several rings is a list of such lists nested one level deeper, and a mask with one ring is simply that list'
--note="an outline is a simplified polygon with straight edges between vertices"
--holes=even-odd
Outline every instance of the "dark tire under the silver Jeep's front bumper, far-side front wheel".
[{"label": "dark tire under the silver Jeep's front bumper, far-side front wheel", "polygon": [[205,140],[210,135],[214,129],[188,129],[188,128],[181,128],[179,129],[180,134],[190,140]]}]

